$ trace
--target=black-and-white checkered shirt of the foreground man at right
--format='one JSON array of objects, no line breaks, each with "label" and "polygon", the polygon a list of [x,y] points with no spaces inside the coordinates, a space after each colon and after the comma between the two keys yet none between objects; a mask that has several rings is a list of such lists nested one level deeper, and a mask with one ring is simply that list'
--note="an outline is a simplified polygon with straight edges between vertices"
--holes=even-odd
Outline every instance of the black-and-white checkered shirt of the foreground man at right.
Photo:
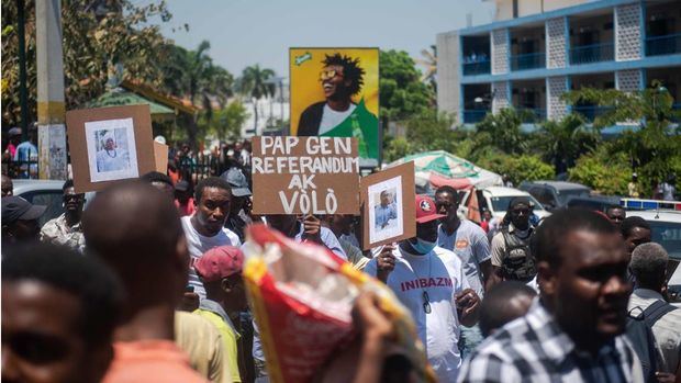
[{"label": "black-and-white checkered shirt of the foreground man at right", "polygon": [[640,361],[624,336],[596,354],[580,351],[538,300],[527,315],[485,339],[459,374],[459,382],[471,383],[643,381]]}]

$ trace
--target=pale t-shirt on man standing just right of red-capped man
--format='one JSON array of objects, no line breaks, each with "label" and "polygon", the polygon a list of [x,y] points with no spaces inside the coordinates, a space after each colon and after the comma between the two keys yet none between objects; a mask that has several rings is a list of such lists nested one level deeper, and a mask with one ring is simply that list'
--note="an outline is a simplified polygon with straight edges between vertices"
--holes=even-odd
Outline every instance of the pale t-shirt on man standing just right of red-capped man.
[{"label": "pale t-shirt on man standing just right of red-capped man", "polygon": [[451,250],[459,256],[470,288],[479,296],[482,296],[484,289],[482,288],[480,263],[492,257],[490,243],[484,230],[468,219],[461,219],[461,224],[451,235],[448,235],[440,225],[437,230],[437,246]]}]

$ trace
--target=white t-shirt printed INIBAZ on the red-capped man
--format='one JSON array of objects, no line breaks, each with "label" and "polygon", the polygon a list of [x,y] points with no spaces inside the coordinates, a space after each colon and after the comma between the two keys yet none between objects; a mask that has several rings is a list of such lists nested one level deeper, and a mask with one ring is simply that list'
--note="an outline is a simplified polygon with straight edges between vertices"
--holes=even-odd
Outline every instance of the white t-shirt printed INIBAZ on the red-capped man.
[{"label": "white t-shirt printed INIBAZ on the red-capped man", "polygon": [[[456,382],[461,356],[455,294],[469,288],[461,260],[442,247],[425,256],[409,255],[398,247],[393,255],[397,262],[388,277],[388,286],[412,313],[438,381]],[[365,272],[376,277],[376,258],[367,263]],[[431,314],[424,311],[424,291],[428,294]]]}]

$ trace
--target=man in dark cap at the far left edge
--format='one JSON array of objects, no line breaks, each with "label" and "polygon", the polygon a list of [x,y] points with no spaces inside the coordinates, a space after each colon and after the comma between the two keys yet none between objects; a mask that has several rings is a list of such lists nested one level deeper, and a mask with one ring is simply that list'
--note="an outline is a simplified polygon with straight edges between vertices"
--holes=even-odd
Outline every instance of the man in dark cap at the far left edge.
[{"label": "man in dark cap at the far left edge", "polygon": [[33,205],[21,196],[2,199],[2,248],[38,238],[40,218],[47,206]]}]

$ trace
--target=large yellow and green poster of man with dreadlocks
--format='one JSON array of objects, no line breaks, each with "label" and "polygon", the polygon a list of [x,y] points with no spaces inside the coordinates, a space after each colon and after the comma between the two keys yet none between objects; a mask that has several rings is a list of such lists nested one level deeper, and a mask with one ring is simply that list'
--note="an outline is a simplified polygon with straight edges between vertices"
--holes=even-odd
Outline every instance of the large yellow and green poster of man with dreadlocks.
[{"label": "large yellow and green poster of man with dreadlocks", "polygon": [[378,48],[291,48],[291,135],[355,137],[360,161],[378,165]]}]

